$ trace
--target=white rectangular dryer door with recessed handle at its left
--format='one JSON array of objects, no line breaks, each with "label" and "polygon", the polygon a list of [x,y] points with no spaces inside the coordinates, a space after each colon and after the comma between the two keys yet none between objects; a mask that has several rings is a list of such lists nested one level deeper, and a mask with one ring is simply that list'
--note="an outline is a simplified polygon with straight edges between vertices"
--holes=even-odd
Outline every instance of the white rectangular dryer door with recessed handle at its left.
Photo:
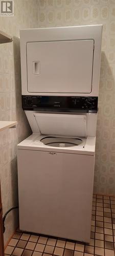
[{"label": "white rectangular dryer door with recessed handle at its left", "polygon": [[28,92],[91,93],[94,40],[27,42]]}]

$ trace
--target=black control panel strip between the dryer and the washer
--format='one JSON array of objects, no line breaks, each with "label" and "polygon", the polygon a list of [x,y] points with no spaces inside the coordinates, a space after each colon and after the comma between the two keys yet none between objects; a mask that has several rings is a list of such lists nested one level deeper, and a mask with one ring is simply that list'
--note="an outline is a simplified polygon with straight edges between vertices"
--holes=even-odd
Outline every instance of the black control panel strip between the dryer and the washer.
[{"label": "black control panel strip between the dryer and the washer", "polygon": [[22,95],[22,109],[52,112],[97,113],[98,97]]}]

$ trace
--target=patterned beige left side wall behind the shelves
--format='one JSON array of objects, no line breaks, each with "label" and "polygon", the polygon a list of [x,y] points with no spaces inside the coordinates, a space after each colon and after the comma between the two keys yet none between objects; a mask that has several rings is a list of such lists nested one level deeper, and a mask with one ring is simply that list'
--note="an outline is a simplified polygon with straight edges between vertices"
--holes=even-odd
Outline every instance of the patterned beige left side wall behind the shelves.
[{"label": "patterned beige left side wall behind the shelves", "polygon": [[[0,45],[0,120],[17,120],[16,129],[0,133],[0,177],[3,213],[17,205],[16,145],[31,130],[21,109],[19,30],[38,27],[38,1],[14,0],[14,16],[0,16],[0,30],[13,42]],[[16,210],[6,218],[5,244],[16,228]]]}]

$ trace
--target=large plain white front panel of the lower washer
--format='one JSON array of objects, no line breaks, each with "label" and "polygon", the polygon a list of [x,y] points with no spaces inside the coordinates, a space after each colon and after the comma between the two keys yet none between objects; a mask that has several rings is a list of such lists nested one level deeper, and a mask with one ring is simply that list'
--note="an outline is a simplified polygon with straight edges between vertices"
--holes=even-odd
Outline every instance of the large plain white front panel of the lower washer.
[{"label": "large plain white front panel of the lower washer", "polygon": [[89,242],[94,156],[17,150],[21,230]]}]

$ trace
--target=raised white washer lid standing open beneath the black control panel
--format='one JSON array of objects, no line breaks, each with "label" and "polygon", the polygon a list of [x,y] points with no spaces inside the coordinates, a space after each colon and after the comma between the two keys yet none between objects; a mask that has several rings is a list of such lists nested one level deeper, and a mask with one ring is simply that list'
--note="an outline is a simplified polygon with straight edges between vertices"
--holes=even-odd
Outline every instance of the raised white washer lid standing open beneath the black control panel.
[{"label": "raised white washer lid standing open beneath the black control panel", "polygon": [[86,137],[86,115],[34,113],[41,135]]}]

